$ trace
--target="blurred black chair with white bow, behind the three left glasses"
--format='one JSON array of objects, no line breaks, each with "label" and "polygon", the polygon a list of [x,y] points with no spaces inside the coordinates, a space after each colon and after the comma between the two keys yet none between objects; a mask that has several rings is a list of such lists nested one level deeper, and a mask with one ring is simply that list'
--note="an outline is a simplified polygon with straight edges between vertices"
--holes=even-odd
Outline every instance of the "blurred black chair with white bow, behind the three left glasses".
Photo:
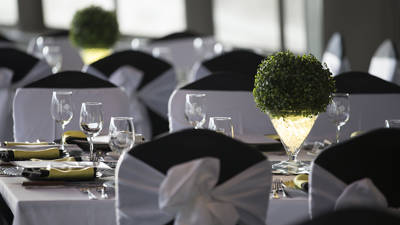
[{"label": "blurred black chair with white bow, behind the three left glasses", "polygon": [[168,131],[168,99],[177,85],[169,63],[127,50],[85,66],[84,71],[123,87],[135,127],[147,140]]}]

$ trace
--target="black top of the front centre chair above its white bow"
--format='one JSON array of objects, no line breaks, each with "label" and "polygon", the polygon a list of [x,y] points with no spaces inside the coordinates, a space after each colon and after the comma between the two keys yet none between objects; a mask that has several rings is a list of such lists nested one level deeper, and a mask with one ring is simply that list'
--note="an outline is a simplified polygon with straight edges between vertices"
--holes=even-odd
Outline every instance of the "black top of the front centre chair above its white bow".
[{"label": "black top of the front centre chair above its white bow", "polygon": [[135,146],[130,155],[163,174],[177,164],[203,157],[221,162],[218,184],[265,159],[255,148],[206,129],[187,129]]}]

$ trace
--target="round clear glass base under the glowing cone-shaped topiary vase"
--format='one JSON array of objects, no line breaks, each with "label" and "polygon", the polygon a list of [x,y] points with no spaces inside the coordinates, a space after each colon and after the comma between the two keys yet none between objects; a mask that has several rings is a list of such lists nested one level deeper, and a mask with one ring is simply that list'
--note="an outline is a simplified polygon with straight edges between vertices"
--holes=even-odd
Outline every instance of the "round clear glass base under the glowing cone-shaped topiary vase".
[{"label": "round clear glass base under the glowing cone-shaped topiary vase", "polygon": [[272,165],[272,172],[279,173],[279,174],[304,174],[310,173],[311,167],[309,164],[306,164],[301,161],[282,161],[279,163],[275,163]]}]

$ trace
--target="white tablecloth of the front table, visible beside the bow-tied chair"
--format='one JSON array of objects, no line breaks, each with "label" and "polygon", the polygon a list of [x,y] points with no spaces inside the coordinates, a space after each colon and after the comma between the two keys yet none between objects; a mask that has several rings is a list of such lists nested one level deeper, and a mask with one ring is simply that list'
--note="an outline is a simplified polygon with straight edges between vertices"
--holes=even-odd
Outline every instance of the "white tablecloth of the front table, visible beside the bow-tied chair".
[{"label": "white tablecloth of the front table, visible beside the bow-tied chair", "polygon": [[[269,160],[285,159],[281,152],[266,153]],[[310,160],[305,153],[300,158]],[[73,187],[26,188],[23,177],[0,177],[0,194],[14,214],[13,225],[114,225],[115,200],[89,200]],[[270,199],[268,225],[297,223],[308,218],[308,199]]]}]

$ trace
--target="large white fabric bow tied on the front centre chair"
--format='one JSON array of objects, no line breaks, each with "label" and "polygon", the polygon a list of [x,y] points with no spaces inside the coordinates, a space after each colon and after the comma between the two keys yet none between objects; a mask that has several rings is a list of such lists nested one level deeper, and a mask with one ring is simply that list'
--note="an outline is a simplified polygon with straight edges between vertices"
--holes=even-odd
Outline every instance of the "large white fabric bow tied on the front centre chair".
[{"label": "large white fabric bow tied on the front centre chair", "polygon": [[171,168],[161,183],[160,209],[175,216],[175,225],[234,225],[239,214],[218,198],[219,161],[195,160]]}]

